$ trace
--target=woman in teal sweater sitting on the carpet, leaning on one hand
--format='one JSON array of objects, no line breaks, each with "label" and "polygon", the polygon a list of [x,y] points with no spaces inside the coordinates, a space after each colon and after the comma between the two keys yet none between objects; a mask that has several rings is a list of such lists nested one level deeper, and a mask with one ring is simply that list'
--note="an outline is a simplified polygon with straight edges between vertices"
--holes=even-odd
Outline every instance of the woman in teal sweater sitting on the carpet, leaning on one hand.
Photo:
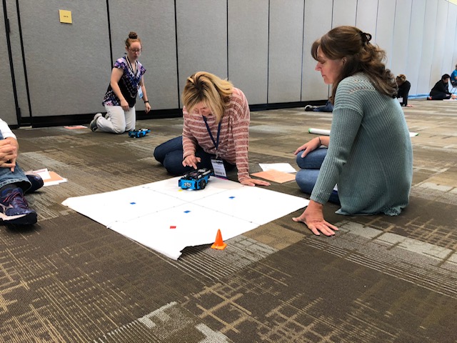
[{"label": "woman in teal sweater sitting on the carpet, leaning on one hand", "polygon": [[311,198],[293,220],[314,234],[331,236],[338,230],[323,218],[329,198],[341,204],[337,213],[346,215],[393,216],[408,205],[411,139],[396,100],[395,77],[383,64],[384,51],[370,40],[371,34],[356,27],[338,26],[311,48],[316,70],[333,85],[334,101],[330,136],[318,136],[295,151],[301,166],[296,182]]}]

